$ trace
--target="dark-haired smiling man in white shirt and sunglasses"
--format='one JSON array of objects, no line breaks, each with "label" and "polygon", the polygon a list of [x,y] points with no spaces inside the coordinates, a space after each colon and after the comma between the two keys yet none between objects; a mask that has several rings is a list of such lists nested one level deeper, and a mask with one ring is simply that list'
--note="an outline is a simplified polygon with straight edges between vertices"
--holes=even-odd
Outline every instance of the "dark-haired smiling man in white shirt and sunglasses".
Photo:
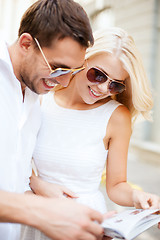
[{"label": "dark-haired smiling man in white shirt and sunglasses", "polygon": [[[97,239],[102,216],[68,199],[23,194],[40,127],[37,94],[67,86],[93,43],[88,18],[72,0],[39,0],[22,17],[18,40],[0,43],[0,239],[18,240],[19,224],[59,240]],[[96,221],[96,222],[95,222]],[[8,222],[8,224],[6,223]]]}]

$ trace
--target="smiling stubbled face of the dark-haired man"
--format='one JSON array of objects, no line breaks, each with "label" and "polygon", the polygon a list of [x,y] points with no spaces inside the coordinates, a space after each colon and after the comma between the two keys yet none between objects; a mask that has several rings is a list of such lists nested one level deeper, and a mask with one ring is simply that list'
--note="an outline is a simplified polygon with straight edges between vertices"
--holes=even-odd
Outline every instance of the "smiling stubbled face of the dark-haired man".
[{"label": "smiling stubbled face of the dark-haired man", "polygon": [[[51,47],[43,47],[42,50],[53,70],[80,68],[84,64],[86,49],[69,37],[57,40]],[[37,94],[44,94],[49,92],[55,84],[61,84],[64,87],[69,84],[71,73],[51,78],[50,72],[42,53],[32,44],[20,64],[19,80],[22,89],[27,86]]]}]

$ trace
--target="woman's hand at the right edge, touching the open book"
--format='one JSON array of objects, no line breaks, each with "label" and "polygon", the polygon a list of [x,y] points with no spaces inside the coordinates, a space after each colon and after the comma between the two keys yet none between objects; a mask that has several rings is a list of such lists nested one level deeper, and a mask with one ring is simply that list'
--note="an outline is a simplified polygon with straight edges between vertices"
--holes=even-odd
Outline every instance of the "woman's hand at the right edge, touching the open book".
[{"label": "woman's hand at the right edge, touching the open book", "polygon": [[133,204],[136,208],[160,208],[160,197],[140,190],[133,190]]}]

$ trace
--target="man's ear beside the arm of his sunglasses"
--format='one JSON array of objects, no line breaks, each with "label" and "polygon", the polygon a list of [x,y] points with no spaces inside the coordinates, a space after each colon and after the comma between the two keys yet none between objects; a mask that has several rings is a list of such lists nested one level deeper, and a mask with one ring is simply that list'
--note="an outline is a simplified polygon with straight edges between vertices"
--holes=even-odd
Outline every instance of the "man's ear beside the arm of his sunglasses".
[{"label": "man's ear beside the arm of his sunglasses", "polygon": [[25,52],[27,52],[30,49],[30,47],[33,45],[33,41],[34,40],[29,33],[23,33],[18,39],[18,43],[21,50]]}]

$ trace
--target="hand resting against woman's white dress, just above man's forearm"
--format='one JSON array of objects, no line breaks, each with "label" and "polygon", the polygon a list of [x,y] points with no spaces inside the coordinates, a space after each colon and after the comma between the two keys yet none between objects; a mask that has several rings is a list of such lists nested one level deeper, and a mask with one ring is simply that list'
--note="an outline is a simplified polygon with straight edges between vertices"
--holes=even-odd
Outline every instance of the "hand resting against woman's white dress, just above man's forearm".
[{"label": "hand resting against woman's white dress, just above man's forearm", "polygon": [[76,194],[68,188],[59,184],[45,182],[35,175],[30,177],[30,188],[35,194],[44,197],[77,198]]}]

